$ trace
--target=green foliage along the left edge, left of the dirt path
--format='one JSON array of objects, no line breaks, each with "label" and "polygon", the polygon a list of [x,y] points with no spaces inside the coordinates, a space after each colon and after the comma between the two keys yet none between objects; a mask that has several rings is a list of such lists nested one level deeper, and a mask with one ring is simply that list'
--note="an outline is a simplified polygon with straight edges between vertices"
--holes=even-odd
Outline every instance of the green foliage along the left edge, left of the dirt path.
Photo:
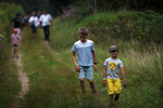
[{"label": "green foliage along the left edge, left of the dirt path", "polygon": [[21,5],[0,2],[0,107],[9,108],[15,94],[21,90],[16,67],[11,60],[11,23],[16,13],[24,14],[24,11]]}]

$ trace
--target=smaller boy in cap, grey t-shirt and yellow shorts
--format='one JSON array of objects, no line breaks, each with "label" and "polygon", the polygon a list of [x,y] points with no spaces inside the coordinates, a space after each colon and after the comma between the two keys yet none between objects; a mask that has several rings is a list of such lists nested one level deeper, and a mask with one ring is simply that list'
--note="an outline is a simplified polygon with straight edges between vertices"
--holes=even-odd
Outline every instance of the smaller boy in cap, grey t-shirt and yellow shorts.
[{"label": "smaller boy in cap, grey t-shirt and yellow shorts", "polygon": [[110,54],[111,57],[106,58],[104,60],[104,71],[103,71],[103,85],[106,84],[108,92],[111,99],[112,108],[114,108],[114,100],[113,100],[113,94],[115,92],[115,102],[120,98],[121,94],[121,80],[118,77],[118,69],[121,69],[122,77],[123,77],[123,85],[124,87],[127,86],[125,72],[124,72],[124,66],[122,60],[117,58],[118,54],[118,48],[116,45],[110,46]]}]

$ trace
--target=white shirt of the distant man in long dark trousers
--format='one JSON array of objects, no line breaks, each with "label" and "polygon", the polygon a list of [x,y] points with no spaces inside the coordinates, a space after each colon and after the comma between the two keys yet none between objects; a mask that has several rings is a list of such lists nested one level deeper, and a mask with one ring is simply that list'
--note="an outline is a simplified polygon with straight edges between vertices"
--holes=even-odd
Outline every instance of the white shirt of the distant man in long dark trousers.
[{"label": "white shirt of the distant man in long dark trousers", "polygon": [[48,26],[50,25],[50,21],[52,19],[51,15],[50,14],[42,14],[39,18],[39,21],[42,23],[42,26]]}]

